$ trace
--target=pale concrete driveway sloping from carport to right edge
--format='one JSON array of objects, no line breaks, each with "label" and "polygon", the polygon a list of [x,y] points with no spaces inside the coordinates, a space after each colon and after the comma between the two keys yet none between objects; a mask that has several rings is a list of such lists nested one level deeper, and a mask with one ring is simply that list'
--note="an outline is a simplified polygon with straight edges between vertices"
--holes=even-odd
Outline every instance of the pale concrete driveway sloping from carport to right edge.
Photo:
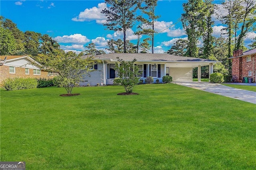
[{"label": "pale concrete driveway sloping from carport to right edge", "polygon": [[228,87],[225,85],[221,85],[217,83],[209,83],[209,82],[173,82],[173,83],[256,104],[256,92],[254,91],[236,89],[236,88]]}]

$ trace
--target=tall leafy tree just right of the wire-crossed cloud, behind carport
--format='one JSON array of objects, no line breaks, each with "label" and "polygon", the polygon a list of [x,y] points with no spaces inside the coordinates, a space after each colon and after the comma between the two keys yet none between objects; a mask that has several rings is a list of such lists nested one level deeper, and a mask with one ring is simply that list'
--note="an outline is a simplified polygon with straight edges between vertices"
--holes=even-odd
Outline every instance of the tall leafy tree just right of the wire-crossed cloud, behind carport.
[{"label": "tall leafy tree just right of the wire-crossed cloud, behind carport", "polygon": [[188,56],[198,57],[198,39],[206,27],[205,4],[203,0],[188,0],[183,4],[184,14],[181,16],[182,26],[188,35]]}]

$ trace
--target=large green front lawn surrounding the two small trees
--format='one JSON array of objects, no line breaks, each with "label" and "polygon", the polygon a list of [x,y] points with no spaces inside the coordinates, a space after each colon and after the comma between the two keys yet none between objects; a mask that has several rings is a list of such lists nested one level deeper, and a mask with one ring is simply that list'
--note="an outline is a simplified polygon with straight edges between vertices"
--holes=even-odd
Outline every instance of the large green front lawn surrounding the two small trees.
[{"label": "large green front lawn surrounding the two small trees", "polygon": [[176,84],[1,89],[1,161],[27,169],[256,169],[256,107]]}]

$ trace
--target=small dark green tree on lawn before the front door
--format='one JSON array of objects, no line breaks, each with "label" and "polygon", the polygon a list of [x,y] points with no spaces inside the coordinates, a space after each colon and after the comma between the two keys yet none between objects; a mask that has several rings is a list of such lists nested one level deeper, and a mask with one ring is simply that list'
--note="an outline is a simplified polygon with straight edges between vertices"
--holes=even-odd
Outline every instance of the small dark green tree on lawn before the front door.
[{"label": "small dark green tree on lawn before the front door", "polygon": [[132,61],[124,61],[120,58],[117,59],[118,62],[116,62],[115,70],[118,71],[121,85],[124,86],[126,93],[132,93],[133,87],[138,84],[140,79],[140,77],[137,77],[139,69],[134,65],[136,59],[133,59]]}]

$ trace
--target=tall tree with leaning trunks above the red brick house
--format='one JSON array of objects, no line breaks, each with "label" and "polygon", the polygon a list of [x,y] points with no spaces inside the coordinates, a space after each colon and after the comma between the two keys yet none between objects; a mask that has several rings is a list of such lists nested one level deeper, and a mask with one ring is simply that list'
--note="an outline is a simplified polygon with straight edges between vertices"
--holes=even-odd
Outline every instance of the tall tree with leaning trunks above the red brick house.
[{"label": "tall tree with leaning trunks above the red brick house", "polygon": [[[256,1],[255,0],[243,0],[244,7],[240,10],[240,16],[242,18],[241,32],[238,36],[236,43],[236,49],[241,48],[243,39],[246,36],[246,33],[252,30],[253,26],[256,23]],[[254,24],[254,25],[253,25]]]}]

